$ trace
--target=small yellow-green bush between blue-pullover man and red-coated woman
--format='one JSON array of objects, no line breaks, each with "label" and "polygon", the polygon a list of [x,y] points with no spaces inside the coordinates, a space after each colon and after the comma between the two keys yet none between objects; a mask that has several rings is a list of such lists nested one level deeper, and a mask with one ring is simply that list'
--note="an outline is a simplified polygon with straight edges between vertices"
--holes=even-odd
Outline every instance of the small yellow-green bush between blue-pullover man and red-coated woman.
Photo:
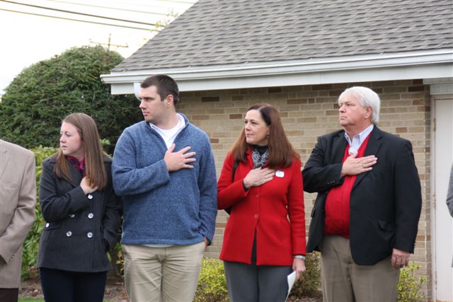
[{"label": "small yellow-green bush between blue-pullover man and red-coated woman", "polygon": [[224,264],[212,258],[202,260],[200,278],[194,302],[227,302],[229,301]]}]

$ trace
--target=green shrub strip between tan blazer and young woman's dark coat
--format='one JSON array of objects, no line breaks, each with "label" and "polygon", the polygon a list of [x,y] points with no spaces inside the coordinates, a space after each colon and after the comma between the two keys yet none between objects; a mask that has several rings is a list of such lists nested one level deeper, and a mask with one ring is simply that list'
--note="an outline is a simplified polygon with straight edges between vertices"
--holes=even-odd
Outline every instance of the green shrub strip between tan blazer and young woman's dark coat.
[{"label": "green shrub strip between tan blazer and young woman's dark coat", "polygon": [[36,158],[36,209],[35,209],[35,221],[33,226],[28,232],[27,238],[23,243],[23,255],[22,255],[22,278],[27,279],[30,277],[30,274],[35,272],[36,261],[38,260],[38,249],[40,245],[40,236],[42,227],[44,226],[44,219],[42,219],[40,202],[39,202],[39,192],[40,192],[40,178],[42,173],[42,161],[45,158],[51,156],[53,153],[57,152],[57,149],[52,147],[43,147],[39,146],[32,149],[35,153]]}]

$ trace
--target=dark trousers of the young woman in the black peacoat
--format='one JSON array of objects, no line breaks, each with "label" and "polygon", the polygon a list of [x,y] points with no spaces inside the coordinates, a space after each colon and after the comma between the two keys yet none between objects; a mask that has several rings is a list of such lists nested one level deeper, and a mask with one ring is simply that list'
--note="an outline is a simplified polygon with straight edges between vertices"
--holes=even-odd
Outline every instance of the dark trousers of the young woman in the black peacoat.
[{"label": "dark trousers of the young woman in the black peacoat", "polygon": [[107,272],[68,272],[40,269],[46,302],[102,302]]}]

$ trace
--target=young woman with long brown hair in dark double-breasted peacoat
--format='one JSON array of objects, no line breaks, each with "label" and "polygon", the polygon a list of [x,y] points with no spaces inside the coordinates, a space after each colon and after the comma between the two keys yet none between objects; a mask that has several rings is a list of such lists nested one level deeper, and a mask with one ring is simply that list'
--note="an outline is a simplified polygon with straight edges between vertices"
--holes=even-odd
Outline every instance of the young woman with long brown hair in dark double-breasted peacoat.
[{"label": "young woman with long brown hair in dark double-breasted peacoat", "polygon": [[47,302],[101,302],[107,252],[120,223],[111,160],[102,152],[96,122],[84,113],[63,120],[59,145],[42,163],[40,180],[42,292]]}]

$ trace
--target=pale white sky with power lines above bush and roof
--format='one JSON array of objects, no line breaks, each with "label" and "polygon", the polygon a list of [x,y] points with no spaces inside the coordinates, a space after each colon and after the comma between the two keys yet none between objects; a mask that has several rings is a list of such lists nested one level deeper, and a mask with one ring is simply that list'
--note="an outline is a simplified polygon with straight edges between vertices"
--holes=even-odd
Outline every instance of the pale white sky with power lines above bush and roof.
[{"label": "pale white sky with power lines above bush and roof", "polygon": [[169,14],[180,16],[196,1],[0,0],[0,95],[24,68],[71,47],[108,48],[110,38],[110,50],[129,57],[156,34],[152,24],[173,20]]}]

